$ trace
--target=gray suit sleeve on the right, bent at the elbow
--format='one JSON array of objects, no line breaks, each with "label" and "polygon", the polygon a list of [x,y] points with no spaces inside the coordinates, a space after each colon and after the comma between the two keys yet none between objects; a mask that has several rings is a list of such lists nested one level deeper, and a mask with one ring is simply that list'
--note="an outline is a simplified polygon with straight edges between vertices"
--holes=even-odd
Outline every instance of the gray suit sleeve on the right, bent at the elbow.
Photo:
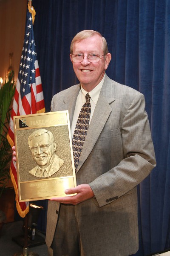
[{"label": "gray suit sleeve on the right, bent at the elbow", "polygon": [[156,166],[150,125],[144,108],[144,96],[138,93],[120,125],[124,159],[89,183],[99,207],[125,196]]}]

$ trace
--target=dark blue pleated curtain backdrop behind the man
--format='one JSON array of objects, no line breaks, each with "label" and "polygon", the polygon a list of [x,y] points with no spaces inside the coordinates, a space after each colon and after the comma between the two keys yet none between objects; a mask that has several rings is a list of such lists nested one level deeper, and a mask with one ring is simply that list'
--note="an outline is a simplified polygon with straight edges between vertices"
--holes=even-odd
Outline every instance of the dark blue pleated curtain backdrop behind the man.
[{"label": "dark blue pleated curtain backdrop behind the man", "polygon": [[[69,58],[74,35],[108,41],[111,79],[142,92],[157,166],[139,186],[139,251],[170,248],[170,0],[33,0],[34,35],[46,112],[54,94],[77,83]],[[40,224],[46,225],[47,201]]]}]

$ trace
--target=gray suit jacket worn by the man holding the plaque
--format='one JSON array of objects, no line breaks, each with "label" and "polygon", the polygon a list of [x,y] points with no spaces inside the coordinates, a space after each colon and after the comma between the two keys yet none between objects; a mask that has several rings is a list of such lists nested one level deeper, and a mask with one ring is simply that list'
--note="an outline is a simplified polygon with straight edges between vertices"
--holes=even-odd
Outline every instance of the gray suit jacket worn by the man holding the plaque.
[{"label": "gray suit jacket worn by the man holding the plaque", "polygon": [[[68,110],[70,123],[80,84],[57,93],[51,111]],[[105,76],[77,169],[95,198],[77,207],[87,256],[127,256],[138,250],[137,191],[156,166],[144,96]],[[59,204],[49,201],[46,243],[51,246]]]}]

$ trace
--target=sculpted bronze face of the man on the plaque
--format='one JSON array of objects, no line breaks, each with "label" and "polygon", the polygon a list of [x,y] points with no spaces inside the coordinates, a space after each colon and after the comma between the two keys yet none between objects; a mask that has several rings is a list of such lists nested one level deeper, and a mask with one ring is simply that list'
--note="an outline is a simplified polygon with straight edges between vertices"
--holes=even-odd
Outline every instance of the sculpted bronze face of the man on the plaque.
[{"label": "sculpted bronze face of the man on the plaque", "polygon": [[[40,146],[49,145],[47,150],[42,151]],[[31,152],[34,160],[36,161],[37,165],[41,168],[46,168],[51,163],[51,157],[56,151],[57,143],[53,142],[50,143],[49,136],[47,133],[41,134],[30,141],[30,148],[38,147],[37,151]],[[43,147],[42,147],[43,148]]]}]

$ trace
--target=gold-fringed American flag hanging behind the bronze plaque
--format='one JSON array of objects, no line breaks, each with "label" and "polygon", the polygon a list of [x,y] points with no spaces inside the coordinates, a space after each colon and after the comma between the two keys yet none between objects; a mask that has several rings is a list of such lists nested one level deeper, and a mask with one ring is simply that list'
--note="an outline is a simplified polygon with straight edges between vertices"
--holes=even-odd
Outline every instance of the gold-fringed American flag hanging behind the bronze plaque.
[{"label": "gold-fringed American flag hanging behind the bronze plaque", "polygon": [[[34,10],[33,7],[32,9]],[[23,51],[7,136],[11,146],[15,145],[13,116],[45,112],[44,96],[35,49],[32,14],[29,10],[30,8],[27,10]],[[16,163],[13,160],[11,161],[10,174],[16,194],[17,211],[21,217],[25,217],[28,213],[28,202],[20,203],[18,201],[17,170]]]}]

